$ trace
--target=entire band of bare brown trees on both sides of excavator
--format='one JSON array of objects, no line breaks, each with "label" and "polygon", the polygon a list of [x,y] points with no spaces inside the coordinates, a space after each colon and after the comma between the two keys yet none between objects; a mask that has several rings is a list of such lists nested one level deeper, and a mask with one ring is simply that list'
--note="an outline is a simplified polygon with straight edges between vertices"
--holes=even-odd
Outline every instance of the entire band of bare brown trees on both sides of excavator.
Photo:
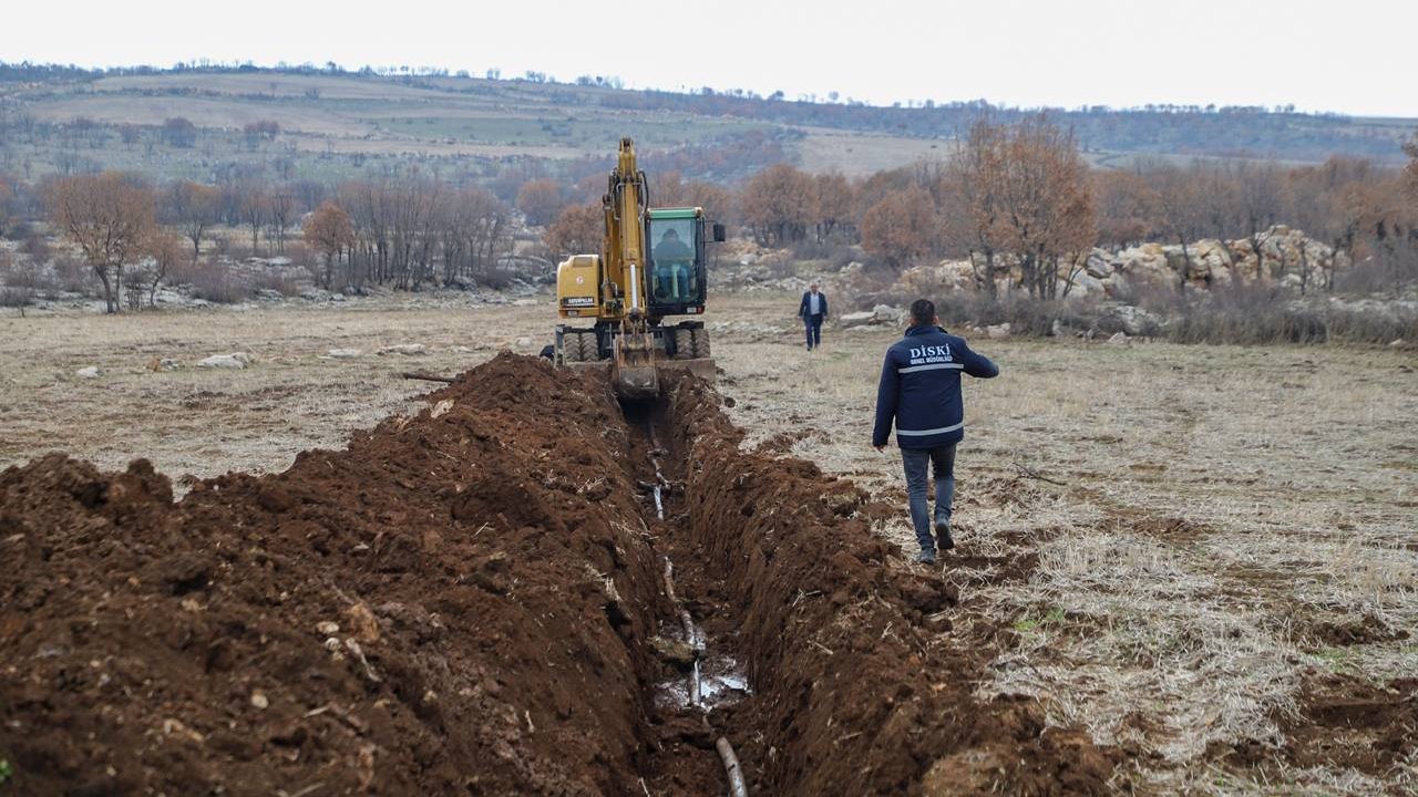
[{"label": "entire band of bare brown trees on both sides of excavator", "polygon": [[[968,258],[991,294],[1018,267],[1021,289],[1056,298],[1093,247],[1161,241],[1190,258],[1200,238],[1251,238],[1259,248],[1276,224],[1371,264],[1385,288],[1401,288],[1418,279],[1418,139],[1405,152],[1407,169],[1354,157],[1316,166],[1140,159],[1090,169],[1072,130],[1044,116],[983,119],[947,156],[865,179],[781,163],[736,184],[662,172],[651,174],[651,200],[705,207],[737,234],[803,257],[861,251],[883,271]],[[0,177],[0,235],[17,218],[47,218],[82,254],[115,312],[135,281],[150,301],[179,260],[227,254],[237,237],[268,255],[301,241],[318,258],[313,279],[332,289],[496,284],[516,272],[513,240],[526,230],[542,235],[542,268],[597,251],[603,190],[604,173],[569,183],[530,166],[508,167],[486,186],[417,170],[337,184],[240,169],[211,184],[152,184],[116,172],[33,186]],[[132,272],[139,264],[140,275]],[[1322,288],[1334,288],[1333,275]]]}]

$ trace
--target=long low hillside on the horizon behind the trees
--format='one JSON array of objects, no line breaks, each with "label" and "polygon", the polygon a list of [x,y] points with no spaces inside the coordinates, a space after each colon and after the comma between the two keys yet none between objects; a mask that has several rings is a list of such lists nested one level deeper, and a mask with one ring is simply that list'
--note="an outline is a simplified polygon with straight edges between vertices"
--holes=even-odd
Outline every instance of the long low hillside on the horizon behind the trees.
[{"label": "long low hillside on the horizon behind the trees", "polygon": [[[981,115],[1034,111],[961,102],[881,108],[752,92],[630,91],[618,81],[549,82],[295,69],[85,71],[0,64],[0,169],[129,169],[211,180],[274,169],[345,179],[370,167],[486,179],[508,163],[570,179],[600,173],[632,135],[647,166],[736,180],[774,162],[862,176],[940,155]],[[1048,112],[1090,162],[1137,156],[1305,163],[1332,155],[1401,159],[1411,119],[1356,119],[1261,108],[1086,108]],[[177,121],[177,122],[173,122]],[[182,123],[190,122],[184,133]],[[179,128],[167,128],[169,123]],[[269,135],[257,125],[265,125]],[[257,166],[252,166],[257,165]]]}]

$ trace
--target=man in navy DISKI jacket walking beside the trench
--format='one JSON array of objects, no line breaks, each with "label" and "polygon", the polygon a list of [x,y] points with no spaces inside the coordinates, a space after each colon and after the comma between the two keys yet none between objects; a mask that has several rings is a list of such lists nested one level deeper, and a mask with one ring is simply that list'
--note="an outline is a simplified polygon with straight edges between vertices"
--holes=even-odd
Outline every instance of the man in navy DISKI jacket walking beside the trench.
[{"label": "man in navy DISKI jacket walking beside the trench", "polygon": [[[906,496],[910,522],[916,528],[920,553],[916,562],[933,563],[936,547],[950,550],[950,502],[956,492],[956,444],[964,437],[964,401],[960,373],[990,379],[998,366],[949,335],[936,318],[936,305],[916,299],[910,305],[906,336],[886,350],[882,379],[876,389],[876,428],[872,445],[886,448],[892,423],[906,468]],[[936,536],[930,535],[926,506],[926,464],[936,476]]]}]

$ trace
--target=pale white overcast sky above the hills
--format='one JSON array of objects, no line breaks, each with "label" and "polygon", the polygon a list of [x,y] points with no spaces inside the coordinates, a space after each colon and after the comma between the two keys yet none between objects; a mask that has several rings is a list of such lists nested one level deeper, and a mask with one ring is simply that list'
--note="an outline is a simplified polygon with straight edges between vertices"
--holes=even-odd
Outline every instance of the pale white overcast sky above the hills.
[{"label": "pale white overcast sky above the hills", "polygon": [[[206,9],[210,9],[206,10]],[[1418,116],[1412,0],[14,0],[0,60],[434,65],[865,102]]]}]

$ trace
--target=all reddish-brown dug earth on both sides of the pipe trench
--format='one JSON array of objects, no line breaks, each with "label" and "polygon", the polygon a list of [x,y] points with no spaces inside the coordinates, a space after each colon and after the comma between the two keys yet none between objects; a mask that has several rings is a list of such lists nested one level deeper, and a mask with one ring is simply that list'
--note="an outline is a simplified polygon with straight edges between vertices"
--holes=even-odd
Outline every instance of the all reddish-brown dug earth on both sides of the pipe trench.
[{"label": "all reddish-brown dug earth on both sides of the pipe trench", "polygon": [[[145,461],[0,474],[0,793],[723,794],[719,736],[759,794],[1105,790],[971,695],[988,652],[868,496],[742,452],[702,383],[623,411],[503,355],[428,398],[177,502]],[[682,621],[744,671],[712,708],[665,689]]]}]

